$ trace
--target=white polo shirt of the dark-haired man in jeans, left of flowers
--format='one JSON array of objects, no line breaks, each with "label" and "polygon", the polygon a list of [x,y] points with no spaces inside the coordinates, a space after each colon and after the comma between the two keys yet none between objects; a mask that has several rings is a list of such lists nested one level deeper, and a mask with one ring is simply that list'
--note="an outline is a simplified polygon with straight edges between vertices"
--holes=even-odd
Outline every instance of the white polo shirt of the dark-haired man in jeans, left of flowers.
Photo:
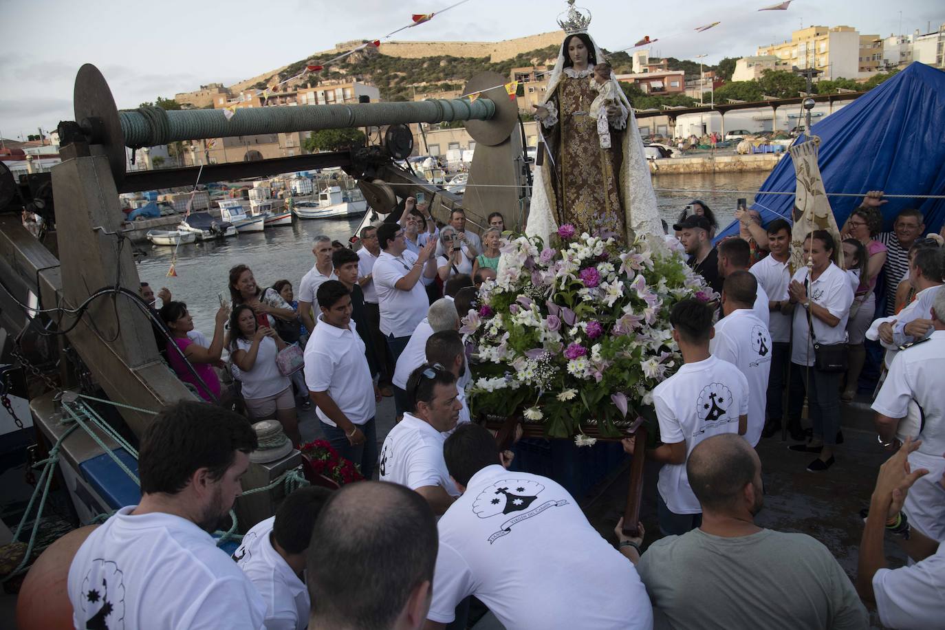
[{"label": "white polo shirt of the dark-haired man in jeans, left of flowers", "polygon": [[[327,391],[353,424],[364,424],[374,417],[374,385],[364,342],[355,332],[353,320],[347,329],[341,329],[325,324],[318,315],[318,326],[305,345],[305,384],[309,391]],[[328,426],[337,426],[321,408],[315,413]]]}]

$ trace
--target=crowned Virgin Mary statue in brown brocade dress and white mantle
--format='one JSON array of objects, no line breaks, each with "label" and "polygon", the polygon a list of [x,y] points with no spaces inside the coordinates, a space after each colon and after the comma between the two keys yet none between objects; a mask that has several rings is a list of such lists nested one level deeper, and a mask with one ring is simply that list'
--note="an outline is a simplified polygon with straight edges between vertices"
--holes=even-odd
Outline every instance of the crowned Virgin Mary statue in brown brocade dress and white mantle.
[{"label": "crowned Virgin Mary statue in brown brocade dress and white mantle", "polygon": [[629,244],[633,234],[662,234],[656,195],[633,109],[612,75],[619,100],[607,110],[610,146],[599,140],[590,112],[598,94],[593,67],[604,55],[587,34],[590,14],[577,11],[574,1],[568,0],[567,19],[558,20],[566,35],[536,106],[546,154],[535,169],[525,233],[547,242],[570,223],[578,233],[612,232]]}]

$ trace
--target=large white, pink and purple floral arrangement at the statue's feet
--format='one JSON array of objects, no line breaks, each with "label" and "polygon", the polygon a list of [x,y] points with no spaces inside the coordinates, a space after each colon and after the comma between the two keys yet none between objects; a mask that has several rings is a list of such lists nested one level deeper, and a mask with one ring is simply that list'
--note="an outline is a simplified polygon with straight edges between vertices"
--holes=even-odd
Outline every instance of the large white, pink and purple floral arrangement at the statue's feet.
[{"label": "large white, pink and purple floral arrangement at the statue's feet", "polygon": [[541,422],[578,446],[656,426],[652,390],[681,365],[669,313],[684,298],[715,296],[679,248],[659,237],[622,247],[607,234],[564,225],[502,247],[495,281],[460,332],[472,346],[473,415]]}]

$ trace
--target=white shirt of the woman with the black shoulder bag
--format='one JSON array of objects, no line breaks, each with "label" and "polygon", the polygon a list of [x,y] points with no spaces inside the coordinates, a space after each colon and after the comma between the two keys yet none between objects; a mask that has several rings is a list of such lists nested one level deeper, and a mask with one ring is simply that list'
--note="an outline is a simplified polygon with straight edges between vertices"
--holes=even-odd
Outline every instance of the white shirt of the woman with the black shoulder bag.
[{"label": "white shirt of the woman with the black shoulder bag", "polygon": [[[801,284],[807,280],[807,267],[799,268],[792,281]],[[819,317],[811,315],[814,334],[817,343],[842,344],[847,340],[847,319],[850,315],[850,306],[853,303],[853,290],[850,281],[843,269],[831,263],[820,276],[807,287],[807,295],[811,301],[825,307],[831,315],[838,317],[840,322],[836,326],[828,326]],[[794,309],[794,339],[791,344],[791,362],[799,366],[814,365],[814,344],[811,341],[811,332],[807,324],[807,309],[799,303]]]}]

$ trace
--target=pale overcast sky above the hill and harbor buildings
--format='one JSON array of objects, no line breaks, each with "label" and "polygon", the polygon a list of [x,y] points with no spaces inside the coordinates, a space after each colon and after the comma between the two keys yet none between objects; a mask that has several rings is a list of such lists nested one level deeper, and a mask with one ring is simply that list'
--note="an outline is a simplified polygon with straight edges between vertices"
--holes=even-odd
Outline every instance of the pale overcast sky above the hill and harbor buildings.
[{"label": "pale overcast sky above the hill and harbor buildings", "polygon": [[[6,138],[71,120],[78,67],[91,62],[105,75],[119,108],[200,84],[229,85],[335,43],[374,39],[455,0],[0,0],[0,133]],[[791,38],[803,26],[847,25],[888,36],[925,32],[945,22],[940,0],[795,0],[786,11],[755,9],[775,0],[578,0],[593,13],[591,34],[617,50],[649,35],[651,55],[710,63],[744,57],[758,45]],[[469,0],[400,41],[498,41],[555,30],[563,0]],[[750,9],[746,9],[749,7]],[[697,26],[721,21],[695,33]]]}]

